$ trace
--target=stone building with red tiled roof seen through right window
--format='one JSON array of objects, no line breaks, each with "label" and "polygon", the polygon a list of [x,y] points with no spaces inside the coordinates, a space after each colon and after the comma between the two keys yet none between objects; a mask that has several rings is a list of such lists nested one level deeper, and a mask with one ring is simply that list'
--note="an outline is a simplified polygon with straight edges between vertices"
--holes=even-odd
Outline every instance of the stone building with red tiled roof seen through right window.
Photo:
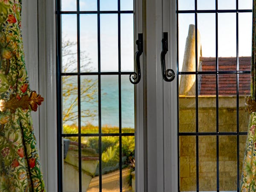
[{"label": "stone building with red tiled roof seen through right window", "polygon": [[[182,71],[195,71],[195,28],[189,27]],[[198,32],[198,71],[216,71],[216,58],[202,57]],[[189,47],[191,47],[189,49]],[[189,58],[186,58],[189,55]],[[250,57],[239,57],[239,70],[250,71]],[[236,71],[236,57],[218,58],[218,71]],[[184,76],[186,76],[184,78]],[[246,135],[228,133],[246,132],[249,115],[244,111],[244,96],[250,94],[250,74],[183,75],[179,89],[179,131],[196,132],[196,94],[198,84],[198,132],[225,132],[217,137],[199,136],[199,186],[200,191],[215,191],[217,183],[217,147],[220,191],[236,191],[237,161],[239,176],[243,163]],[[218,85],[218,89],[216,87]],[[238,92],[237,92],[238,90]],[[217,110],[218,109],[218,113]],[[238,125],[239,124],[239,125]],[[217,129],[218,127],[218,129]],[[238,130],[239,129],[239,130]],[[237,147],[239,137],[239,148]],[[196,137],[180,136],[180,190],[196,191]],[[239,151],[239,159],[237,154]]]}]

